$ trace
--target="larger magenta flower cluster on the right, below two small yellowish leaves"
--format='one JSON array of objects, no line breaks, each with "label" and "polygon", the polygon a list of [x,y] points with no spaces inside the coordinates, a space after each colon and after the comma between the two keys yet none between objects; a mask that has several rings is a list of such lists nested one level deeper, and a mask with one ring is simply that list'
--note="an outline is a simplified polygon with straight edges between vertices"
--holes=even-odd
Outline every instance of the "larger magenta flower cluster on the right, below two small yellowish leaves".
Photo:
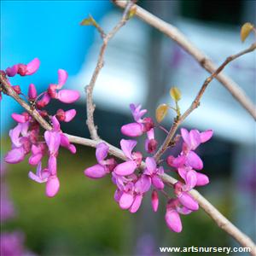
[{"label": "larger magenta flower cluster on the right, below two small yellowish leaves", "polygon": [[195,153],[195,149],[212,137],[212,131],[200,132],[181,129],[181,137],[183,138],[181,153],[177,157],[168,155],[166,158],[167,166],[172,167],[172,171],[177,172],[179,180],[182,180],[174,184],[173,189],[176,197],[170,198],[164,190],[165,183],[161,178],[167,169],[165,170],[164,166],[156,162],[154,155],[152,155],[158,145],[154,137],[156,125],[154,125],[153,119],[143,118],[147,110],[141,110],[141,105],[131,104],[130,108],[135,122],[123,125],[121,132],[128,137],[140,137],[146,133],[145,150],[149,155],[143,157],[142,152],[134,151],[137,141],[122,139],[120,147],[126,160],[117,163],[113,158],[108,159],[108,145],[99,143],[96,147],[98,163],[86,168],[84,174],[90,178],[100,178],[110,173],[112,181],[117,187],[114,200],[121,209],[129,210],[131,213],[137,212],[142,204],[143,196],[151,188],[153,188],[151,194],[152,208],[156,212],[159,206],[159,192],[161,192],[167,197],[166,224],[172,231],[181,232],[182,223],[179,214],[189,214],[199,208],[197,201],[189,194],[189,191],[195,186],[209,183],[205,174],[197,172],[203,168],[203,162]]}]

